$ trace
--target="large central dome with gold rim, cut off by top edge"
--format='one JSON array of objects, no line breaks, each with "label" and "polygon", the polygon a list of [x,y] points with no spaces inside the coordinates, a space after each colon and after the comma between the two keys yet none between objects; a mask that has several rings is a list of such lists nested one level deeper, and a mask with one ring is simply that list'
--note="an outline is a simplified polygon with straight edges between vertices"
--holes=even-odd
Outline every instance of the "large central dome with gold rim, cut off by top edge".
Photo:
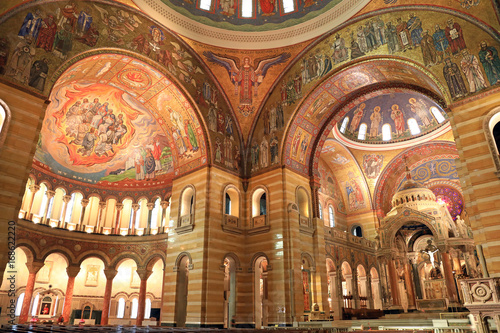
[{"label": "large central dome with gold rim, cut off by top edge", "polygon": [[351,18],[369,0],[133,0],[146,14],[193,40],[243,49],[300,43]]}]

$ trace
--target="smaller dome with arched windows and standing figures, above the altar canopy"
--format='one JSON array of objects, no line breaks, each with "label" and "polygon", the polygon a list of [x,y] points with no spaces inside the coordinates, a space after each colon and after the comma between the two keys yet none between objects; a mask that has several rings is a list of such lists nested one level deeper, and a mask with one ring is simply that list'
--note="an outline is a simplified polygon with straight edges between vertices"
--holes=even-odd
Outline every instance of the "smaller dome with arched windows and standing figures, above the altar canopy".
[{"label": "smaller dome with arched windows and standing figures, above the altar canopy", "polygon": [[336,126],[337,135],[367,144],[424,139],[448,122],[438,104],[404,89],[379,90],[358,98],[347,108]]}]

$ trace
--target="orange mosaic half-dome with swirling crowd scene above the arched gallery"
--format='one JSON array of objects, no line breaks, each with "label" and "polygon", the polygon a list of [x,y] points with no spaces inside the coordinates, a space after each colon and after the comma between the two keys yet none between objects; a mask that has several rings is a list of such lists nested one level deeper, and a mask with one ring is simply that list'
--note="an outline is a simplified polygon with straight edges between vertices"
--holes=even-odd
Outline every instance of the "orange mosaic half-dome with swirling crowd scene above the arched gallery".
[{"label": "orange mosaic half-dome with swirling crowd scene above the arched gallery", "polygon": [[60,77],[50,101],[35,162],[68,181],[158,187],[182,166],[206,163],[192,105],[143,62],[86,58]]}]

